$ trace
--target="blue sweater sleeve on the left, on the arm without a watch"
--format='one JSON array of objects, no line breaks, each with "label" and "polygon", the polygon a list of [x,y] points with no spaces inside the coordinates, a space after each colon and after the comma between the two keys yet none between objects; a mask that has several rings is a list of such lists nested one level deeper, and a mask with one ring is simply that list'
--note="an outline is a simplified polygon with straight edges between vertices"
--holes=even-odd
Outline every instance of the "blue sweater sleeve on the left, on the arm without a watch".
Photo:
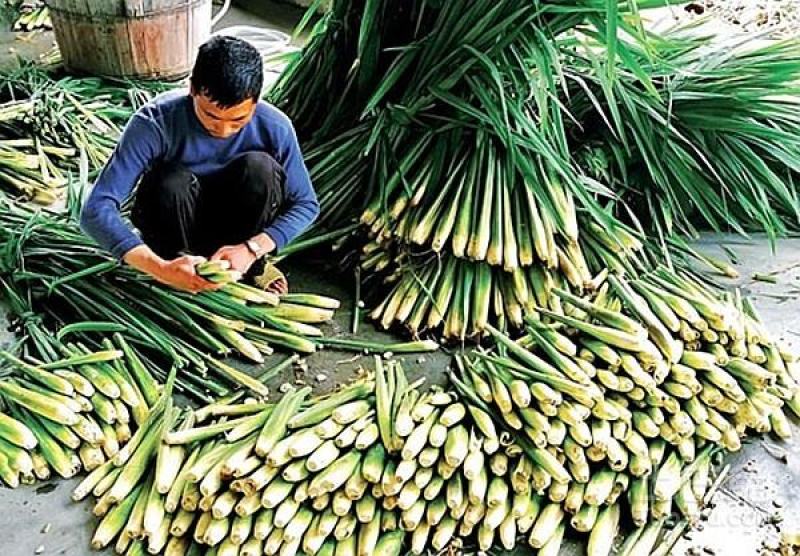
[{"label": "blue sweater sleeve on the left, on the arm without a watch", "polygon": [[120,208],[141,175],[162,155],[156,122],[144,112],[131,118],[81,211],[81,229],[115,257],[141,245]]}]

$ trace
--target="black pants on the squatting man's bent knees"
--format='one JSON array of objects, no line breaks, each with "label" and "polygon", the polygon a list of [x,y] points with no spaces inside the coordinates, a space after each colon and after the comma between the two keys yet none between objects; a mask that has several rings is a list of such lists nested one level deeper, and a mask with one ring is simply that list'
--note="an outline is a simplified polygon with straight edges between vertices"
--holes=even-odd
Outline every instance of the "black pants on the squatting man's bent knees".
[{"label": "black pants on the squatting man's bent knees", "polygon": [[142,177],[131,220],[161,257],[208,257],[269,226],[284,202],[285,181],[281,165],[263,152],[244,153],[202,177],[179,164],[160,164]]}]

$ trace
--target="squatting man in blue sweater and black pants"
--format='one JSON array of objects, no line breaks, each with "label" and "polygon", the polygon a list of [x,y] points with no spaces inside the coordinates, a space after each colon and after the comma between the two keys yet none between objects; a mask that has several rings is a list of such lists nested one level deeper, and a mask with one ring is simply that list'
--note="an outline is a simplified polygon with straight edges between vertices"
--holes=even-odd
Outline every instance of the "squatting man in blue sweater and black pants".
[{"label": "squatting man in blue sweater and black pants", "polygon": [[[291,121],[260,98],[263,81],[251,44],[226,36],[203,44],[189,91],[158,96],[128,122],[84,205],[82,229],[180,290],[219,287],[195,272],[210,258],[286,292],[263,257],[305,230],[319,203]],[[131,197],[132,226],[121,214]]]}]

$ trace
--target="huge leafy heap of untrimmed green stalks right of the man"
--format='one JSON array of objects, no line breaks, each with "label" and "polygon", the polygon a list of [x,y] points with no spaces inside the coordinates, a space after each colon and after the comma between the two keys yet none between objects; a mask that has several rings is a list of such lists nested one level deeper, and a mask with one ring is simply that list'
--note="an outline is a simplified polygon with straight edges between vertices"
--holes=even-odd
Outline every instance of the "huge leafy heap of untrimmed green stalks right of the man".
[{"label": "huge leafy heap of untrimmed green stalks right of the man", "polygon": [[465,340],[606,268],[721,266],[698,223],[796,229],[799,43],[653,35],[655,5],[334,2],[270,99],[376,321]]}]

